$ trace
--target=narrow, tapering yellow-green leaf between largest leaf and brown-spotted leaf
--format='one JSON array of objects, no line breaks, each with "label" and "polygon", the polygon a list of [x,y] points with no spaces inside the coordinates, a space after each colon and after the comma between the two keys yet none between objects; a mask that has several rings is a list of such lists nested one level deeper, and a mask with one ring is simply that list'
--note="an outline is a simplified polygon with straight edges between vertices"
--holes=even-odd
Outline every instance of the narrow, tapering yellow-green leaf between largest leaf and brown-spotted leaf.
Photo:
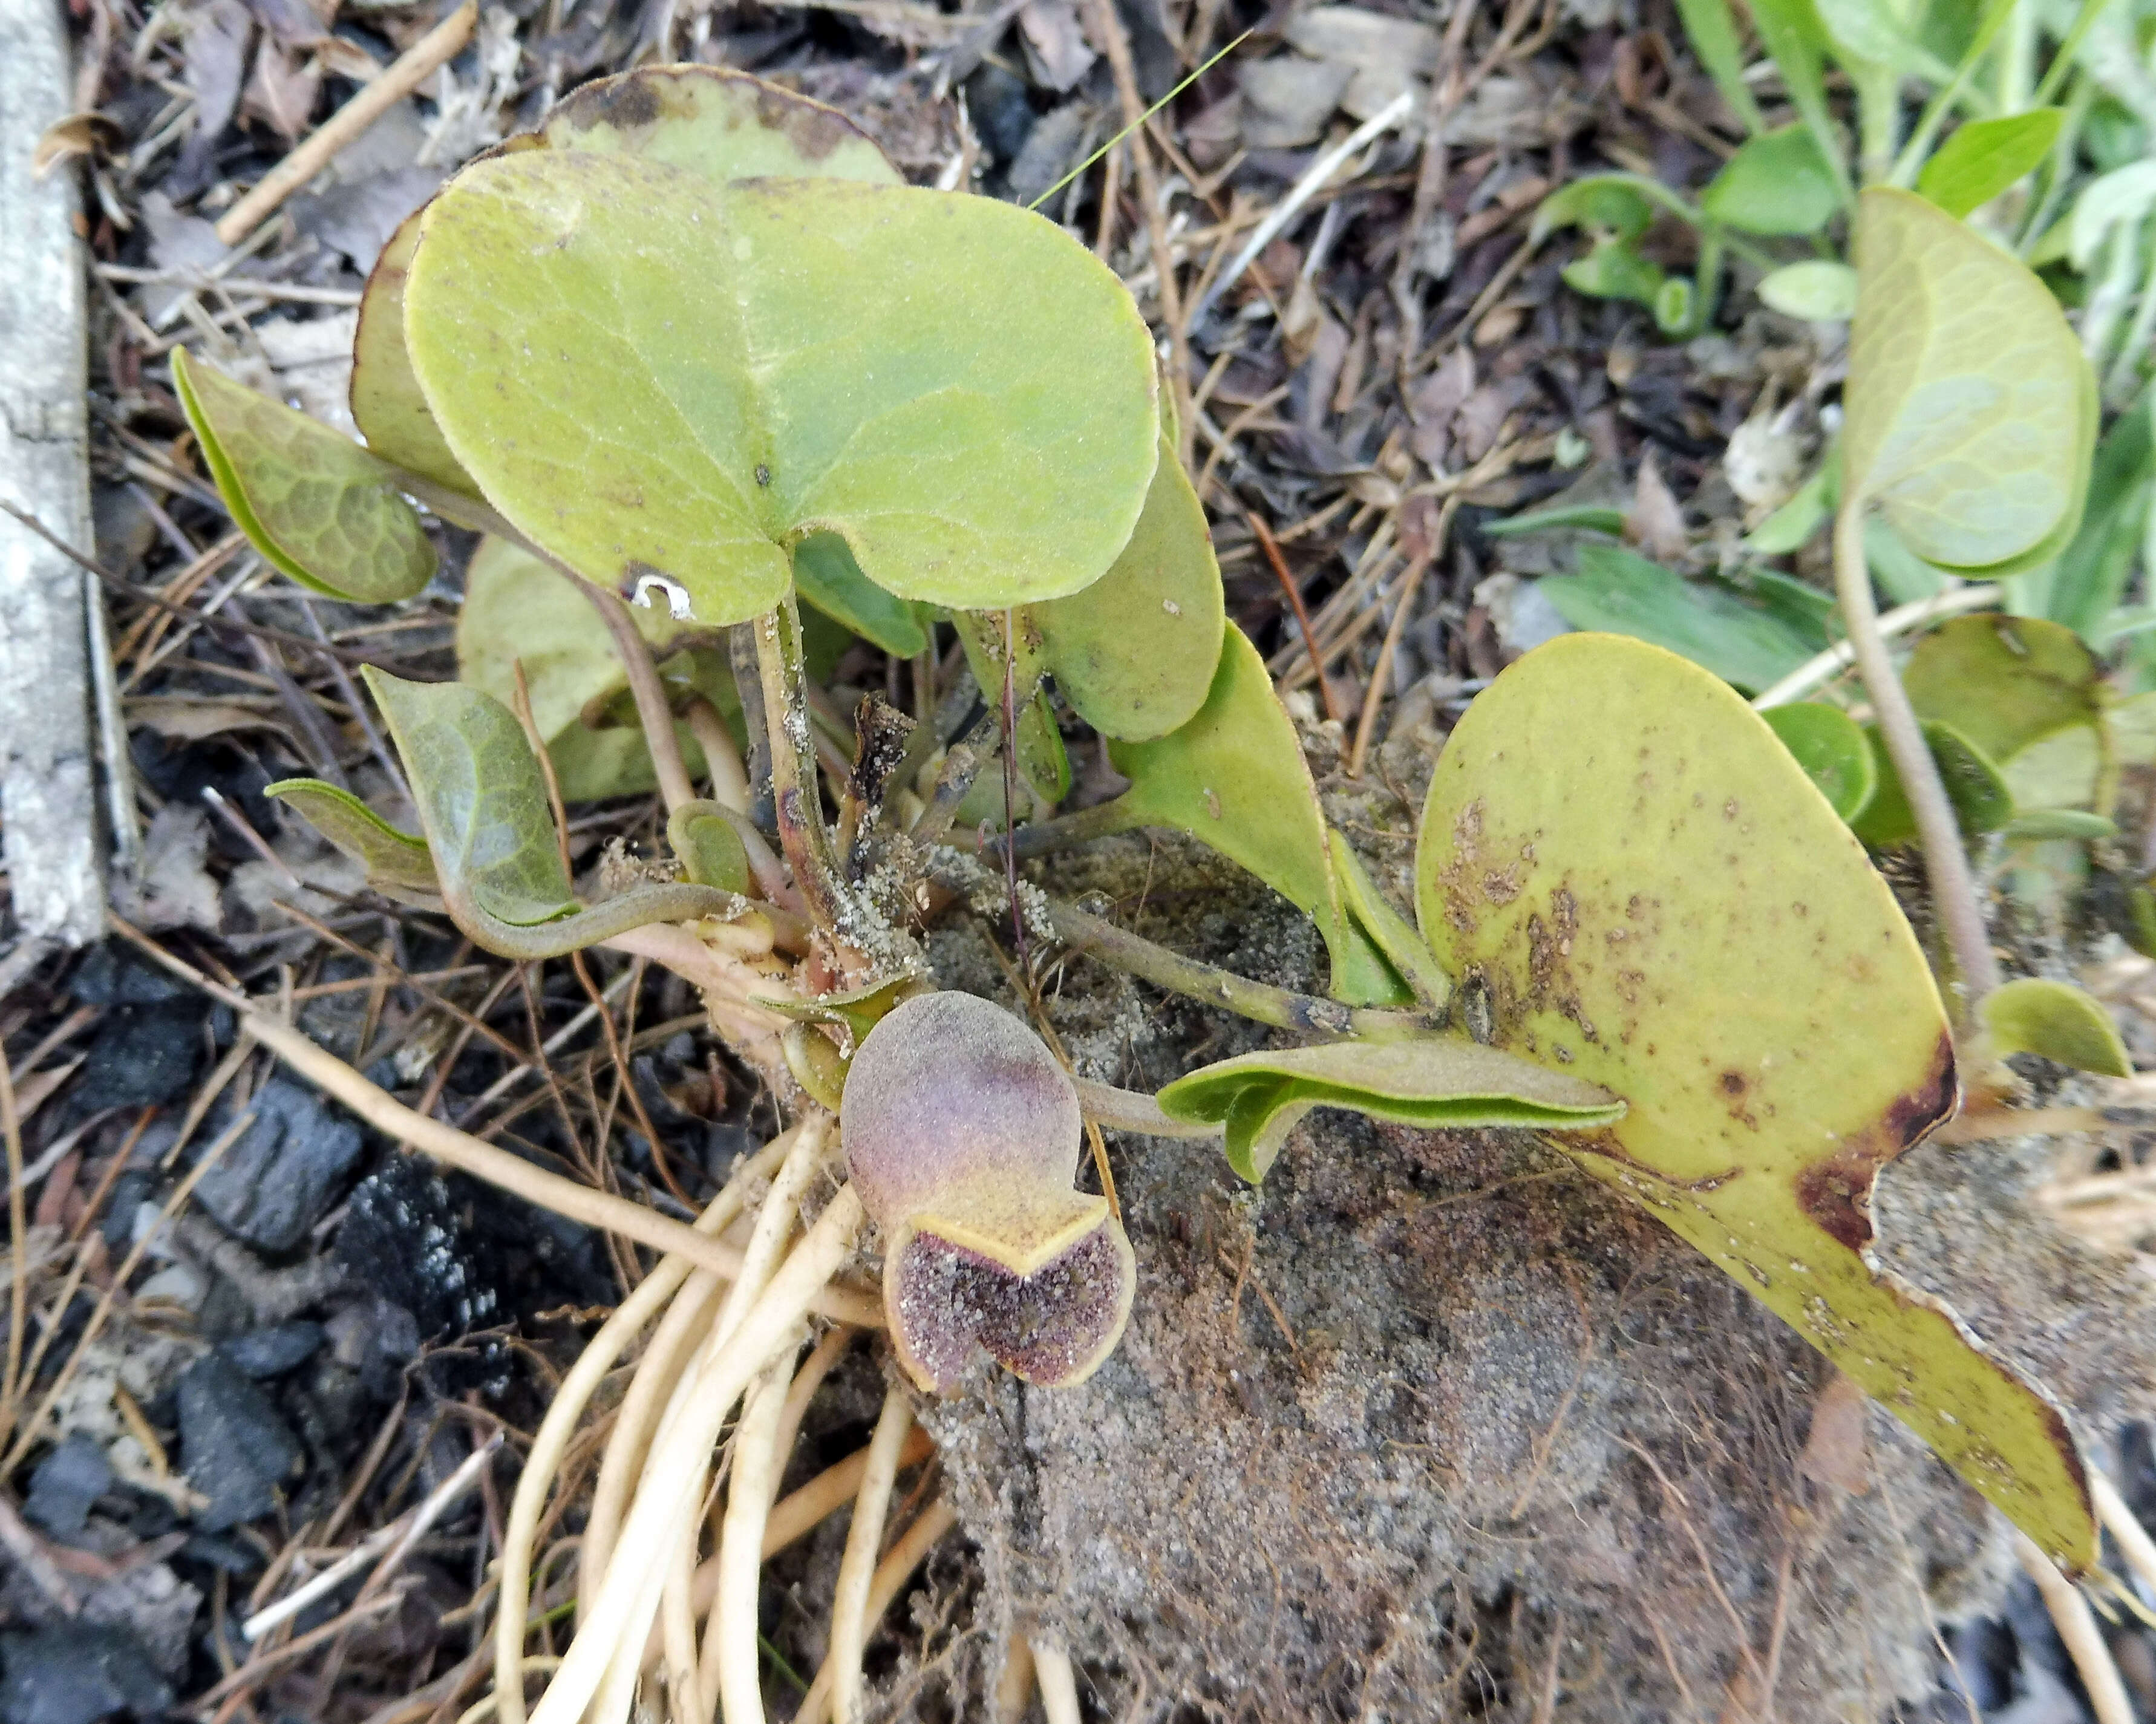
[{"label": "narrow, tapering yellow-green leaf between largest leaf and brown-spotted leaf", "polygon": [[1158,741],[1110,743],[1108,759],[1132,782],[1100,830],[1188,832],[1317,922],[1332,955],[1332,998],[1358,1006],[1414,998],[1341,905],[1302,741],[1242,629],[1227,625],[1197,718]]}]

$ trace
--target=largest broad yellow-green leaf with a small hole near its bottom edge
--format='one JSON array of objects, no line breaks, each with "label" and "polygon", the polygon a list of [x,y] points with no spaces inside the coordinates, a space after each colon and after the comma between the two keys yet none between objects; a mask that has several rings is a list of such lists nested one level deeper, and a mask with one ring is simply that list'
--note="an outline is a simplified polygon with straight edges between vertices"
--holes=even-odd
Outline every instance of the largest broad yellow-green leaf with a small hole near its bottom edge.
[{"label": "largest broad yellow-green leaf with a small hole near its bottom edge", "polygon": [[811,532],[903,599],[1063,597],[1153,476],[1130,293],[990,198],[502,155],[427,207],[405,343],[509,522],[703,625],[768,610]]}]

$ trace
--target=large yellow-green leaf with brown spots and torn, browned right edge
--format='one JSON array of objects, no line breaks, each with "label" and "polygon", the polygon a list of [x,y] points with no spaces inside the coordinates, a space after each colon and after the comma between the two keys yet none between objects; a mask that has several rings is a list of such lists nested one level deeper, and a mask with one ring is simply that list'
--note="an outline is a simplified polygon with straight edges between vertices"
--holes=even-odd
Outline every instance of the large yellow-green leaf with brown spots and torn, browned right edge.
[{"label": "large yellow-green leaf with brown spots and torn, browned right edge", "polygon": [[1953,1112],[1953,1039],[1893,894],[1761,718],[1669,653],[1554,640],[1447,741],[1416,886],[1479,1039],[1626,1101],[1557,1146],[2091,1562],[2059,1409],[1865,1263],[1880,1166]]}]

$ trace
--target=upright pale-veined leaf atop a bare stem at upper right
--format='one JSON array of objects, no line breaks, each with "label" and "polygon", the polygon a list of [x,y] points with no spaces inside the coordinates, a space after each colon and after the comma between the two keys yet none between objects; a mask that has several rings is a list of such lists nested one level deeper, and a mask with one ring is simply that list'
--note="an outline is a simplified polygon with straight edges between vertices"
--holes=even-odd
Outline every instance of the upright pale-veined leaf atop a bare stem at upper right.
[{"label": "upright pale-veined leaf atop a bare stem at upper right", "polygon": [[1858,200],[1843,498],[1953,569],[2050,554],[2081,517],[2096,386],[2059,302],[1910,192]]}]

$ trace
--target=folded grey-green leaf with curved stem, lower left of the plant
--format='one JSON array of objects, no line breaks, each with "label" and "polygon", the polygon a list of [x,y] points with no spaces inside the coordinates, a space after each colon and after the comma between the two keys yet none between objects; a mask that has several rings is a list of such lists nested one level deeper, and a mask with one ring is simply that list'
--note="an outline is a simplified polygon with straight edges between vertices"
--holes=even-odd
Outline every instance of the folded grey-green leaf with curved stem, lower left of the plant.
[{"label": "folded grey-green leaf with curved stem, lower left of the plant", "polygon": [[580,907],[539,759],[515,715],[464,683],[407,683],[371,664],[360,675],[412,780],[442,903],[472,944],[502,957],[561,957],[647,922],[740,907],[731,892],[694,884],[636,886]]}]

